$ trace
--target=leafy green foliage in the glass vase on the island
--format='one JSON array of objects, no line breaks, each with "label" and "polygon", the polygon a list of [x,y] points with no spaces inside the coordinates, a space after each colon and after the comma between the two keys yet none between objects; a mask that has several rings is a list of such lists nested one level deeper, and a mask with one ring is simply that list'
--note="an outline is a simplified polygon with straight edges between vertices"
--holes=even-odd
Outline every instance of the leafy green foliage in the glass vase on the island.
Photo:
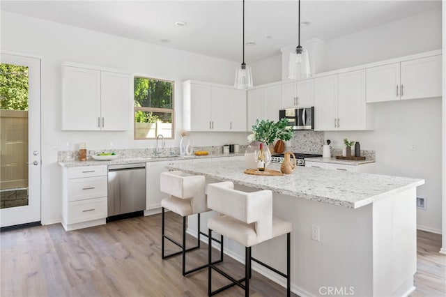
[{"label": "leafy green foliage in the glass vase on the island", "polygon": [[280,121],[256,120],[252,126],[252,134],[248,136],[249,142],[265,142],[272,144],[275,139],[287,141],[293,137],[293,130],[289,128],[288,119]]}]

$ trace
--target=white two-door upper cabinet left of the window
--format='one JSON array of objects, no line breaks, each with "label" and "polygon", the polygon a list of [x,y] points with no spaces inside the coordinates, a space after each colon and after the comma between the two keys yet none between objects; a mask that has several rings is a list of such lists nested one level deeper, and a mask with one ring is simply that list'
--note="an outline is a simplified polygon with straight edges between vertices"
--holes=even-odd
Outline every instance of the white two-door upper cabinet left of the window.
[{"label": "white two-door upper cabinet left of the window", "polygon": [[62,130],[128,130],[128,74],[62,66]]}]

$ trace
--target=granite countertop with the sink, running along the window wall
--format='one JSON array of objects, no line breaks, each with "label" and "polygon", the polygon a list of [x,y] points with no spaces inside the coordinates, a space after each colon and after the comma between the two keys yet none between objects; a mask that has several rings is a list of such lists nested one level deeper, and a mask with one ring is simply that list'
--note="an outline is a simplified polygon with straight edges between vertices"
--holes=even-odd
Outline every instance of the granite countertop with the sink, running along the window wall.
[{"label": "granite countertop with the sink, running along the window wall", "polygon": [[59,165],[62,167],[83,167],[83,166],[99,166],[99,165],[118,165],[118,164],[137,164],[141,162],[159,162],[167,160],[193,160],[193,159],[206,159],[206,158],[224,158],[224,157],[238,157],[243,156],[244,153],[229,153],[229,154],[212,154],[212,155],[164,155],[160,157],[131,157],[131,158],[116,158],[109,161],[93,160],[91,157],[86,161],[61,161]]}]

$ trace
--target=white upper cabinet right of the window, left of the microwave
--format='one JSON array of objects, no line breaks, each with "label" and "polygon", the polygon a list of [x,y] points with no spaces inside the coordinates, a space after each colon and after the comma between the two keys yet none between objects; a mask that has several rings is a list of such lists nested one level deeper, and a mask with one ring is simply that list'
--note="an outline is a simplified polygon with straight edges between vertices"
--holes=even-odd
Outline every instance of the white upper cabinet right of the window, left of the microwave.
[{"label": "white upper cabinet right of the window, left of the microwave", "polygon": [[190,131],[246,131],[246,91],[183,82],[183,127]]}]

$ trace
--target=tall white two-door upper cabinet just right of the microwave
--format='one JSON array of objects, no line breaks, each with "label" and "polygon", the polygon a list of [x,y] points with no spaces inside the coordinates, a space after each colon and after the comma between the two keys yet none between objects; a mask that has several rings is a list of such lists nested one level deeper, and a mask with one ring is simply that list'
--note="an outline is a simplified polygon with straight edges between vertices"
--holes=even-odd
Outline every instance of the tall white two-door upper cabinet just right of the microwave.
[{"label": "tall white two-door upper cabinet just right of the microwave", "polygon": [[315,86],[315,130],[369,130],[374,108],[365,101],[365,70],[318,77]]}]

